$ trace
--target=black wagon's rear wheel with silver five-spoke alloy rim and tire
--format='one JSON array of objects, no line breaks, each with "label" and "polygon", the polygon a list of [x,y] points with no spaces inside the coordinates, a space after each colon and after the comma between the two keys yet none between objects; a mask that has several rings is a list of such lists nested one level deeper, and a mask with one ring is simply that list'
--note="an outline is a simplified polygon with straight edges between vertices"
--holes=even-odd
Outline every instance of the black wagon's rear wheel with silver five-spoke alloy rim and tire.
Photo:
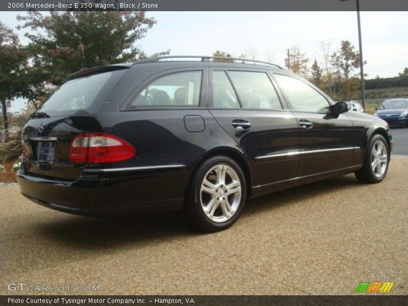
[{"label": "black wagon's rear wheel with silver five-spoke alloy rim and tire", "polygon": [[245,176],[237,162],[226,156],[211,157],[198,167],[189,184],[186,218],[200,231],[225,230],[237,221],[246,195]]}]

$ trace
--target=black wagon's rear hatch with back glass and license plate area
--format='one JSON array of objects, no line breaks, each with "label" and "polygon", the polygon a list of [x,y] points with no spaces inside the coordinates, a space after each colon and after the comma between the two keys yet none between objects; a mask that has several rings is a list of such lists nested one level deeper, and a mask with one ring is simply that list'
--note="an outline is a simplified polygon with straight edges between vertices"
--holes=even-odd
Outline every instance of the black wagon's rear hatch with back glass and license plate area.
[{"label": "black wagon's rear hatch with back glass and license plate area", "polygon": [[60,181],[80,177],[85,165],[69,162],[71,141],[80,133],[103,132],[96,114],[126,68],[77,73],[37,109],[22,133],[24,174]]}]

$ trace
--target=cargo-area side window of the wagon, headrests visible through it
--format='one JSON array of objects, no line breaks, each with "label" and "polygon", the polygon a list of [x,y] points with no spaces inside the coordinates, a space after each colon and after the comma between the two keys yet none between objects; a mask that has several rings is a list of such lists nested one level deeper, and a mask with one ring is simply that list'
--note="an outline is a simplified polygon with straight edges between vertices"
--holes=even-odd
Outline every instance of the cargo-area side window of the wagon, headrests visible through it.
[{"label": "cargo-area side window of the wagon, headrests visible through it", "polygon": [[200,91],[201,71],[171,73],[146,85],[130,107],[198,106]]}]

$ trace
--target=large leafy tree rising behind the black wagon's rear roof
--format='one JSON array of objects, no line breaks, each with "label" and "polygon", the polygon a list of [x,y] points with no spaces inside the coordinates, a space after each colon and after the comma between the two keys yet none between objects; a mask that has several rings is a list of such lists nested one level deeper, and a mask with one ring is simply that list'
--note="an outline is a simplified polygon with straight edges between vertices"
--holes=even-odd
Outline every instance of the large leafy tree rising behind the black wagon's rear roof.
[{"label": "large leafy tree rising behind the black wagon's rear roof", "polygon": [[17,19],[34,32],[25,36],[36,78],[57,86],[75,71],[146,58],[135,42],[156,23],[145,12],[112,11],[29,12]]}]

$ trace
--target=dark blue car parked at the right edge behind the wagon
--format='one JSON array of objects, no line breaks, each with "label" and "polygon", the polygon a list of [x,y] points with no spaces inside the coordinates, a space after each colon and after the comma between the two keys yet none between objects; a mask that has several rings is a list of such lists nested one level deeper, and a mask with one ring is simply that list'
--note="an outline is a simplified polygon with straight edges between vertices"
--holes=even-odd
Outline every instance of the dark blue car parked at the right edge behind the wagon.
[{"label": "dark blue car parked at the right edge behind the wagon", "polygon": [[388,99],[375,110],[374,116],[388,124],[408,127],[408,99]]}]

